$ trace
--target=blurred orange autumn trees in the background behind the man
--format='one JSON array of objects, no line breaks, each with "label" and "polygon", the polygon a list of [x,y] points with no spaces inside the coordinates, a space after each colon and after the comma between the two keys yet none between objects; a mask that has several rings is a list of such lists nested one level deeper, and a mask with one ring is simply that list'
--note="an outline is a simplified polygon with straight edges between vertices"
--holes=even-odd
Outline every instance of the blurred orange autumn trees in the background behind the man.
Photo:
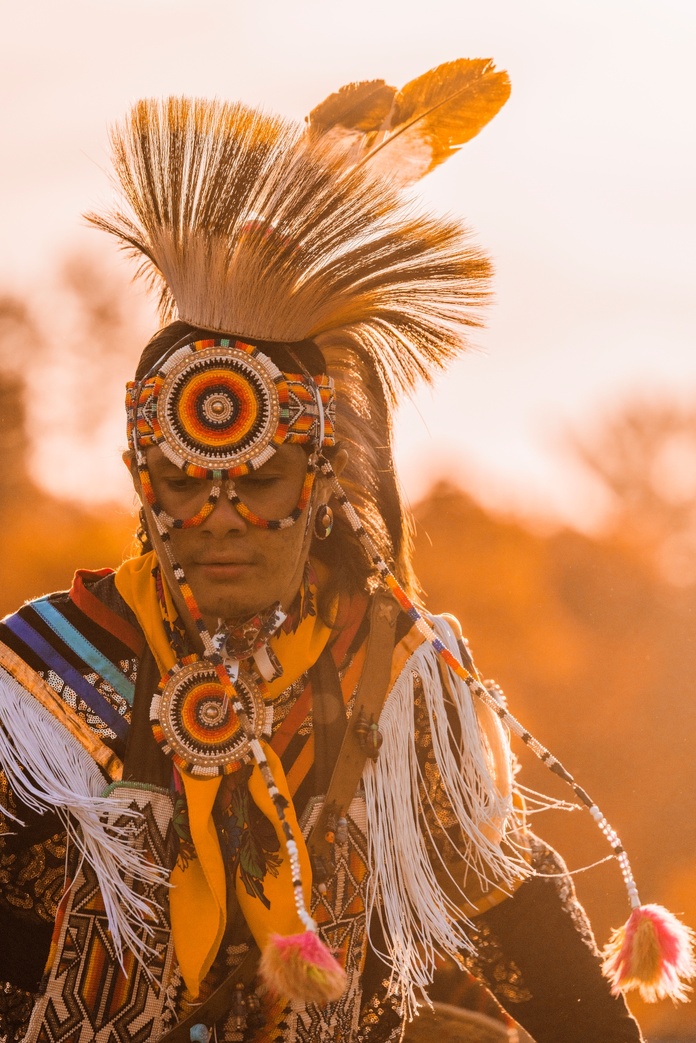
[{"label": "blurred orange autumn trees in the background behind the man", "polygon": [[[0,614],[77,567],[118,565],[135,528],[127,486],[89,459],[123,442],[120,388],[152,318],[90,258],[69,259],[51,294],[50,321],[48,298],[0,295]],[[628,403],[567,451],[602,488],[602,527],[539,528],[439,482],[415,506],[416,572],[428,607],[458,615],[483,675],[603,808],[643,899],[696,927],[696,404]],[[520,758],[526,785],[568,798]],[[571,869],[606,854],[586,815],[532,822]],[[576,884],[603,942],[627,914],[618,868]],[[651,1040],[696,1038],[691,1005],[633,1005]]]}]

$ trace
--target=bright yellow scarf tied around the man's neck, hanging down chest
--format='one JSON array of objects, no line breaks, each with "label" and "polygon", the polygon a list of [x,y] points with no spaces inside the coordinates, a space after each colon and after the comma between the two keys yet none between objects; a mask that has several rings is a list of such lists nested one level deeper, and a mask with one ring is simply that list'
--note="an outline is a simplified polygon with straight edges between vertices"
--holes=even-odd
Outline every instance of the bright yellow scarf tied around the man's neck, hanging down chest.
[{"label": "bright yellow scarf tied around the man's neck, hanging down chest", "polygon": [[[118,569],[116,587],[136,614],[160,673],[164,676],[176,662],[176,656],[163,622],[153,577],[155,565],[157,557],[153,552],[130,558]],[[169,622],[173,623],[177,613],[166,585],[165,611]],[[326,626],[318,615],[313,615],[303,620],[294,633],[281,632],[271,638],[270,647],[283,668],[281,677],[268,685],[271,699],[275,699],[316,662],[330,634],[331,627]],[[285,814],[297,842],[305,901],[309,906],[312,874],[307,847],[299,831],[281,761],[267,743],[262,745],[275,784],[288,802]],[[170,913],[176,959],[187,989],[196,997],[200,991],[200,983],[217,955],[226,926],[225,869],[212,816],[221,778],[197,779],[185,774],[182,778],[195,857],[187,863],[177,863],[172,870]],[[235,892],[240,908],[257,945],[263,950],[270,933],[293,935],[305,928],[295,911],[285,836],[258,765],[254,766],[248,791],[259,809],[273,825],[283,854],[278,875],[268,873],[264,879],[268,908],[259,898],[247,894],[239,875],[236,880]]]}]

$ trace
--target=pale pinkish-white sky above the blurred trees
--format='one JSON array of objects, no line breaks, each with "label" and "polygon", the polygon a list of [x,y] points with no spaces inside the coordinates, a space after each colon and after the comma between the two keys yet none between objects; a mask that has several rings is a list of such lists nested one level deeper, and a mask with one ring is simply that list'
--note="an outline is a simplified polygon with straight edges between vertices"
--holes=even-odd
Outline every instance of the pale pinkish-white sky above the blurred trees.
[{"label": "pale pinkish-white sky above the blurred trees", "polygon": [[[106,127],[139,96],[241,98],[301,118],[351,79],[400,84],[493,56],[510,101],[423,193],[476,229],[498,301],[485,354],[404,410],[409,494],[454,469],[491,503],[590,524],[598,503],[563,432],[629,396],[694,398],[692,0],[1,0],[0,11],[0,288],[33,287],[75,245],[113,253],[79,214],[107,198]],[[119,425],[80,462],[96,496],[124,490]],[[53,452],[45,479],[66,488],[76,479]]]}]

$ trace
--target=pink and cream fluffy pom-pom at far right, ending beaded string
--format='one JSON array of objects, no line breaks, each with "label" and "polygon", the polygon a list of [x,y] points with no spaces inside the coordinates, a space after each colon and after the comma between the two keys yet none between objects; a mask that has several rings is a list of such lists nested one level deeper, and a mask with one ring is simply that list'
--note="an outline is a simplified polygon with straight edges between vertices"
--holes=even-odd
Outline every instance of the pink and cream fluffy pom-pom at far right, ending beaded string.
[{"label": "pink and cream fluffy pom-pom at far right, ending beaded string", "polygon": [[634,908],[602,953],[611,992],[638,989],[648,1003],[686,1000],[687,981],[696,975],[693,941],[693,930],[662,905]]}]

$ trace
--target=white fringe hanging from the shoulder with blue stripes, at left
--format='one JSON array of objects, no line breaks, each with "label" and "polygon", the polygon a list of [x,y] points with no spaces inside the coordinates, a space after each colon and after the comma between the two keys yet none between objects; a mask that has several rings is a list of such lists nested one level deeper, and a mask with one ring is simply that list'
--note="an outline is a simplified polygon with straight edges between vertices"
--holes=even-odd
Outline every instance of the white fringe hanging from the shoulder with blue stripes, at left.
[{"label": "white fringe hanging from the shoulder with blue stripes, at left", "polygon": [[[143,957],[143,921],[151,903],[136,894],[133,881],[154,886],[168,879],[145,860],[129,839],[140,818],[102,796],[105,780],[76,738],[0,669],[0,768],[18,800],[40,815],[57,811],[68,834],[96,874],[119,961],[123,949]],[[8,809],[3,812],[21,824]],[[110,819],[129,818],[116,827]]]}]

